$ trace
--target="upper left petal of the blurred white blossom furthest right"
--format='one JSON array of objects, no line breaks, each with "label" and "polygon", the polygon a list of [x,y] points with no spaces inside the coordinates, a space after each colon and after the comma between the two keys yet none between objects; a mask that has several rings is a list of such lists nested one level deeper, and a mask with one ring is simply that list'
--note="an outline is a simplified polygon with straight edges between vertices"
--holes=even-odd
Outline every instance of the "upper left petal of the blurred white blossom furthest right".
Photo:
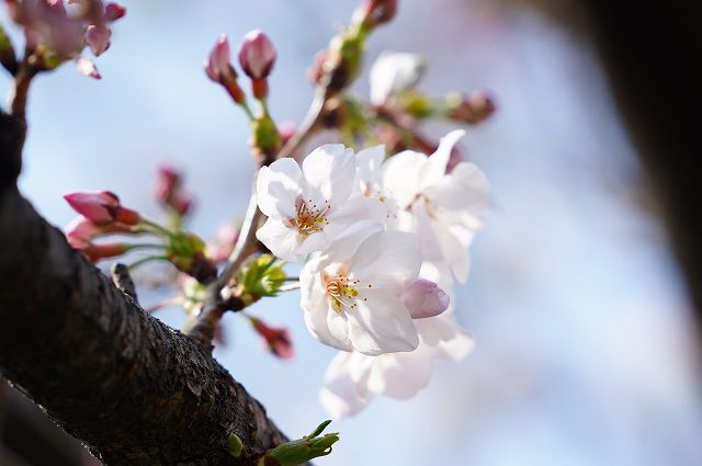
[{"label": "upper left petal of the blurred white blossom furthest right", "polygon": [[409,206],[419,194],[419,173],[424,163],[427,156],[405,150],[383,164],[385,195],[394,198],[399,208]]}]

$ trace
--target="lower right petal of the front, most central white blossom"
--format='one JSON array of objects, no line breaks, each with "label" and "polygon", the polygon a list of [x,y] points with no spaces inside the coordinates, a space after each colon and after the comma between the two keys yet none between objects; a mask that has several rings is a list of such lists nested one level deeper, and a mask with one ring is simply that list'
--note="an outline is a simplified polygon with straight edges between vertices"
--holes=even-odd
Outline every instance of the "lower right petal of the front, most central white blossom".
[{"label": "lower right petal of the front, most central white blossom", "polygon": [[358,307],[344,309],[349,340],[355,351],[376,356],[417,348],[417,330],[409,311],[397,297],[385,289],[362,289],[359,298]]}]

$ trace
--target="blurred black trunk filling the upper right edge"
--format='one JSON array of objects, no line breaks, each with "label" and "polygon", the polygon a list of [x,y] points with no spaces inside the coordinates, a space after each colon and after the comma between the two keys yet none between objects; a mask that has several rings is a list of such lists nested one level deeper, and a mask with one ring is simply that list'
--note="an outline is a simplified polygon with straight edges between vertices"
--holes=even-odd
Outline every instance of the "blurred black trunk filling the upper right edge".
[{"label": "blurred black trunk filling the upper right edge", "polygon": [[580,3],[668,223],[702,336],[702,2]]}]

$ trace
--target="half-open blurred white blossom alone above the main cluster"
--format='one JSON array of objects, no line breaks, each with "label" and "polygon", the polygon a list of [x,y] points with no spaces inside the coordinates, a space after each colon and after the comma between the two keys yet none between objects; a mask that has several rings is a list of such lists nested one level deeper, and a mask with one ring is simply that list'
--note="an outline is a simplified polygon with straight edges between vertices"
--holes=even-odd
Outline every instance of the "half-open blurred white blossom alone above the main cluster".
[{"label": "half-open blurred white blossom alone above the main cluster", "polygon": [[383,105],[403,91],[412,89],[424,72],[427,64],[421,55],[384,52],[375,60],[369,73],[371,102]]}]

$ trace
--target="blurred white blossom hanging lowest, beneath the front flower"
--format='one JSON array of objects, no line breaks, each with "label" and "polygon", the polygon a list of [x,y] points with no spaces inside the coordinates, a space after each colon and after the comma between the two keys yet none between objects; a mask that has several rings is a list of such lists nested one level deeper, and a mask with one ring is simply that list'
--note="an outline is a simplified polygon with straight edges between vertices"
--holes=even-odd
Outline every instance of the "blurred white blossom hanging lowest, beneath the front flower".
[{"label": "blurred white blossom hanging lowest, beneath the front flower", "polygon": [[419,345],[412,352],[376,357],[358,352],[337,354],[319,394],[331,418],[353,416],[377,395],[411,398],[429,384],[434,361],[461,361],[473,350],[473,338],[449,312],[416,320],[415,325]]}]

